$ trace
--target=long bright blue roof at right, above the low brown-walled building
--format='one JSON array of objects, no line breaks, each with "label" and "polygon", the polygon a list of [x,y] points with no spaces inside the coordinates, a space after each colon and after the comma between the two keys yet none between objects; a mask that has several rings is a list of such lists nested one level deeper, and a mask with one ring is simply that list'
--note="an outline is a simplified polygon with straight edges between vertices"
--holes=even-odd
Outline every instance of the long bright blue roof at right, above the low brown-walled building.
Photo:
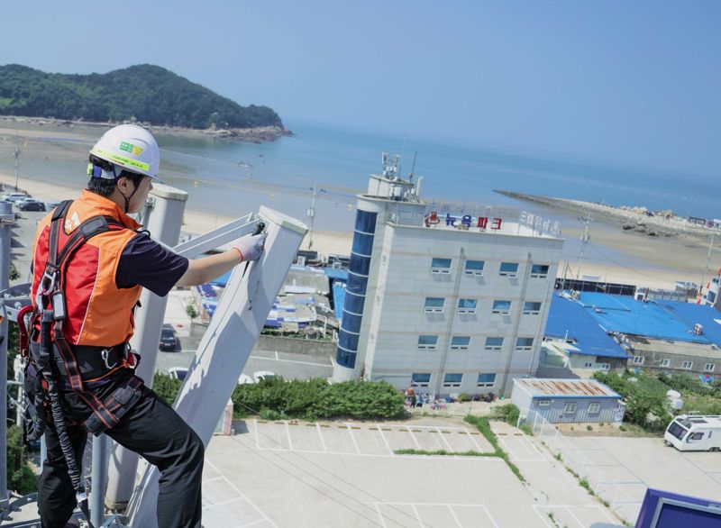
[{"label": "long bright blue roof at right, above the low brown-walled building", "polygon": [[[718,341],[721,341],[721,332],[716,331],[719,325],[713,321],[711,314],[714,310],[708,306],[671,301],[644,303],[628,296],[609,296],[586,292],[580,294],[579,304],[607,332],[700,343],[716,342],[709,339],[714,335]],[[701,308],[707,308],[707,310],[701,310]],[[716,314],[718,313],[716,312]],[[694,334],[695,323],[704,324],[706,335]]]}]

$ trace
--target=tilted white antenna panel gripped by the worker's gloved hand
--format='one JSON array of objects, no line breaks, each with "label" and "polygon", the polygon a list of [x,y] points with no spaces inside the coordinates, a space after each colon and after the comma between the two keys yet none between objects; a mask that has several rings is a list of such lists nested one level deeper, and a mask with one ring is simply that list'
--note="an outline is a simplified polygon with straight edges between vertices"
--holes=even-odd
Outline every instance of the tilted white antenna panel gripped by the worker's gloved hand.
[{"label": "tilted white antenna panel gripped by the worker's gloved hand", "polygon": [[[247,274],[242,267],[233,270],[174,405],[205,445],[307,232],[304,224],[265,207],[260,217],[268,232],[265,251]],[[159,477],[154,466],[146,469],[126,510],[130,526],[157,526]]]}]

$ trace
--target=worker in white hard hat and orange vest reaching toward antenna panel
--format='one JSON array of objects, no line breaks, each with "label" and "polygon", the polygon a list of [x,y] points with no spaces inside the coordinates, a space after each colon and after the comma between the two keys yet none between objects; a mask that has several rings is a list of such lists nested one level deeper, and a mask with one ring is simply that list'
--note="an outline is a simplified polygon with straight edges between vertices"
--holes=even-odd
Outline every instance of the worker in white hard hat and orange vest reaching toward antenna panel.
[{"label": "worker in white hard hat and orange vest reaching toward antenna panel", "polygon": [[[92,432],[107,434],[160,469],[160,528],[197,527],[204,445],[134,375],[139,359],[128,345],[133,312],[143,287],[166,296],[174,286],[203,284],[259,259],[266,235],[245,236],[231,250],[186,259],[153,241],[129,216],[141,211],[158,178],[160,150],[151,133],[132,124],[116,126],[90,150],[89,161],[87,189],[45,216],[33,243],[28,376],[35,387],[31,401],[41,398],[34,407],[42,423],[35,424],[48,448],[38,496],[41,524],[68,523],[82,495],[78,489],[83,491],[73,466],[82,462]],[[51,343],[45,366],[43,335]],[[61,415],[50,405],[55,393]]]}]

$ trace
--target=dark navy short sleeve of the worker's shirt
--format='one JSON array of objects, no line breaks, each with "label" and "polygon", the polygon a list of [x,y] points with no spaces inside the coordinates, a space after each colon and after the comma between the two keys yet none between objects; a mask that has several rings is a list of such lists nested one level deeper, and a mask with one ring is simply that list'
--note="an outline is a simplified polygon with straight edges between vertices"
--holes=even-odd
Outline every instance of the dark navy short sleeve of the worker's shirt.
[{"label": "dark navy short sleeve of the worker's shirt", "polygon": [[187,265],[185,257],[140,232],[123,249],[115,271],[115,285],[119,288],[140,285],[158,296],[167,296],[186,272]]}]

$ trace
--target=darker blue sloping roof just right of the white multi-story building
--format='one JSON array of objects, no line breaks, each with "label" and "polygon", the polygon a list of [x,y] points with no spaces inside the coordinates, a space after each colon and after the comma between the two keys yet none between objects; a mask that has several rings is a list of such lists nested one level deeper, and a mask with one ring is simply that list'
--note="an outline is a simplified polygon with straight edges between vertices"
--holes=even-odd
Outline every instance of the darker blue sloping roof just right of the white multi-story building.
[{"label": "darker blue sloping roof just right of the white multi-story building", "polygon": [[548,314],[545,335],[573,339],[576,350],[571,354],[601,356],[605,358],[627,358],[623,348],[601,328],[587,310],[570,299],[552,296],[551,311]]}]

